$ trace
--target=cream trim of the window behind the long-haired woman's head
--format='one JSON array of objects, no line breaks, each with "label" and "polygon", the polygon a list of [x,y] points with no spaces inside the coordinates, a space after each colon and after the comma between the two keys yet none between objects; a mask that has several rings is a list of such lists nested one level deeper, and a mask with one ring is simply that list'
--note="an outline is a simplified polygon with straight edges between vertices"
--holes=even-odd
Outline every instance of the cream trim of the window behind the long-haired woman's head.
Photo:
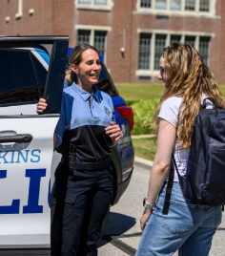
[{"label": "cream trim of the window behind the long-haired woman's head", "polygon": [[199,50],[199,38],[201,36],[206,37],[215,37],[214,32],[186,32],[186,31],[167,31],[167,30],[145,30],[145,29],[137,29],[137,33],[152,33],[152,45],[151,45],[151,62],[150,62],[150,70],[136,70],[136,76],[157,76],[159,70],[154,70],[154,48],[155,48],[155,34],[167,34],[166,45],[170,45],[171,35],[181,35],[181,42],[185,41],[185,35],[195,36],[195,45],[194,48],[196,51]]}]

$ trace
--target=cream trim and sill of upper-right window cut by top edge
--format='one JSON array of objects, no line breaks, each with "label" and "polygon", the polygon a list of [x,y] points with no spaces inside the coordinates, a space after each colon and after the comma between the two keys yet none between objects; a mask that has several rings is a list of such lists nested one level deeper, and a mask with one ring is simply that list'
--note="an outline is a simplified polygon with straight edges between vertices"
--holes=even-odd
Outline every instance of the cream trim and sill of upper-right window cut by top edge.
[{"label": "cream trim and sill of upper-right window cut by top edge", "polygon": [[167,0],[167,10],[155,10],[155,0],[152,0],[153,8],[141,8],[141,0],[136,0],[136,11],[133,14],[162,14],[168,16],[194,16],[194,17],[208,17],[220,18],[215,15],[215,4],[217,0],[210,0],[210,11],[199,11],[200,0],[195,0],[195,11],[185,11],[185,0],[181,0],[181,11],[170,10],[171,0]]}]

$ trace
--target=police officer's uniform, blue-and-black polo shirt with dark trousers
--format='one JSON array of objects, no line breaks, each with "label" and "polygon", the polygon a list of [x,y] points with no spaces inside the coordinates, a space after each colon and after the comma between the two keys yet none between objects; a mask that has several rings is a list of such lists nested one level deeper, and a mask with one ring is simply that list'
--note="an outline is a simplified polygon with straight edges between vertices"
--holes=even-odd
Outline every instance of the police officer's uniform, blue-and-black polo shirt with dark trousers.
[{"label": "police officer's uniform, blue-and-black polo shirt with dark trousers", "polygon": [[[94,94],[75,83],[64,90],[62,110],[55,128],[56,150],[65,159],[72,143],[77,162],[107,160],[112,139],[105,128],[115,122],[111,96],[92,85]],[[112,200],[113,171],[110,164],[99,170],[72,170],[61,162],[55,171],[58,240],[55,255],[97,255],[104,217]]]}]

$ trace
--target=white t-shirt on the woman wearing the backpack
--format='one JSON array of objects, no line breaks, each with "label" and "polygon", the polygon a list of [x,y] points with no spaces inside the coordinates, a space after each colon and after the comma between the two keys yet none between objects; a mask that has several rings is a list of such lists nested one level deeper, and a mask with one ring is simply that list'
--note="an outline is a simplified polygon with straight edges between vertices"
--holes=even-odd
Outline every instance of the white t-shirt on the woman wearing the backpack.
[{"label": "white t-shirt on the woman wearing the backpack", "polygon": [[[204,94],[201,96],[201,104],[203,100],[208,97]],[[166,99],[160,109],[158,117],[161,117],[176,127],[179,107],[182,101],[182,96],[172,96]],[[207,100],[206,108],[213,108],[211,101]],[[185,175],[187,170],[187,163],[190,154],[190,148],[179,149],[179,139],[175,140],[174,144],[174,159],[181,176]],[[169,174],[166,181],[168,181]],[[174,170],[174,181],[179,181],[176,171]]]}]

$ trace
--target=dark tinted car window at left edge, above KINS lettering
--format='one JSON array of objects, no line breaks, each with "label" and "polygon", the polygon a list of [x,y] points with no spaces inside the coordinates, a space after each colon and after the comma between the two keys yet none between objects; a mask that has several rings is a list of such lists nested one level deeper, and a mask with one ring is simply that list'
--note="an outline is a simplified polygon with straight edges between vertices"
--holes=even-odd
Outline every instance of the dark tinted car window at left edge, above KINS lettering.
[{"label": "dark tinted car window at left edge, above KINS lettering", "polygon": [[37,101],[39,91],[29,53],[0,51],[0,104]]}]

